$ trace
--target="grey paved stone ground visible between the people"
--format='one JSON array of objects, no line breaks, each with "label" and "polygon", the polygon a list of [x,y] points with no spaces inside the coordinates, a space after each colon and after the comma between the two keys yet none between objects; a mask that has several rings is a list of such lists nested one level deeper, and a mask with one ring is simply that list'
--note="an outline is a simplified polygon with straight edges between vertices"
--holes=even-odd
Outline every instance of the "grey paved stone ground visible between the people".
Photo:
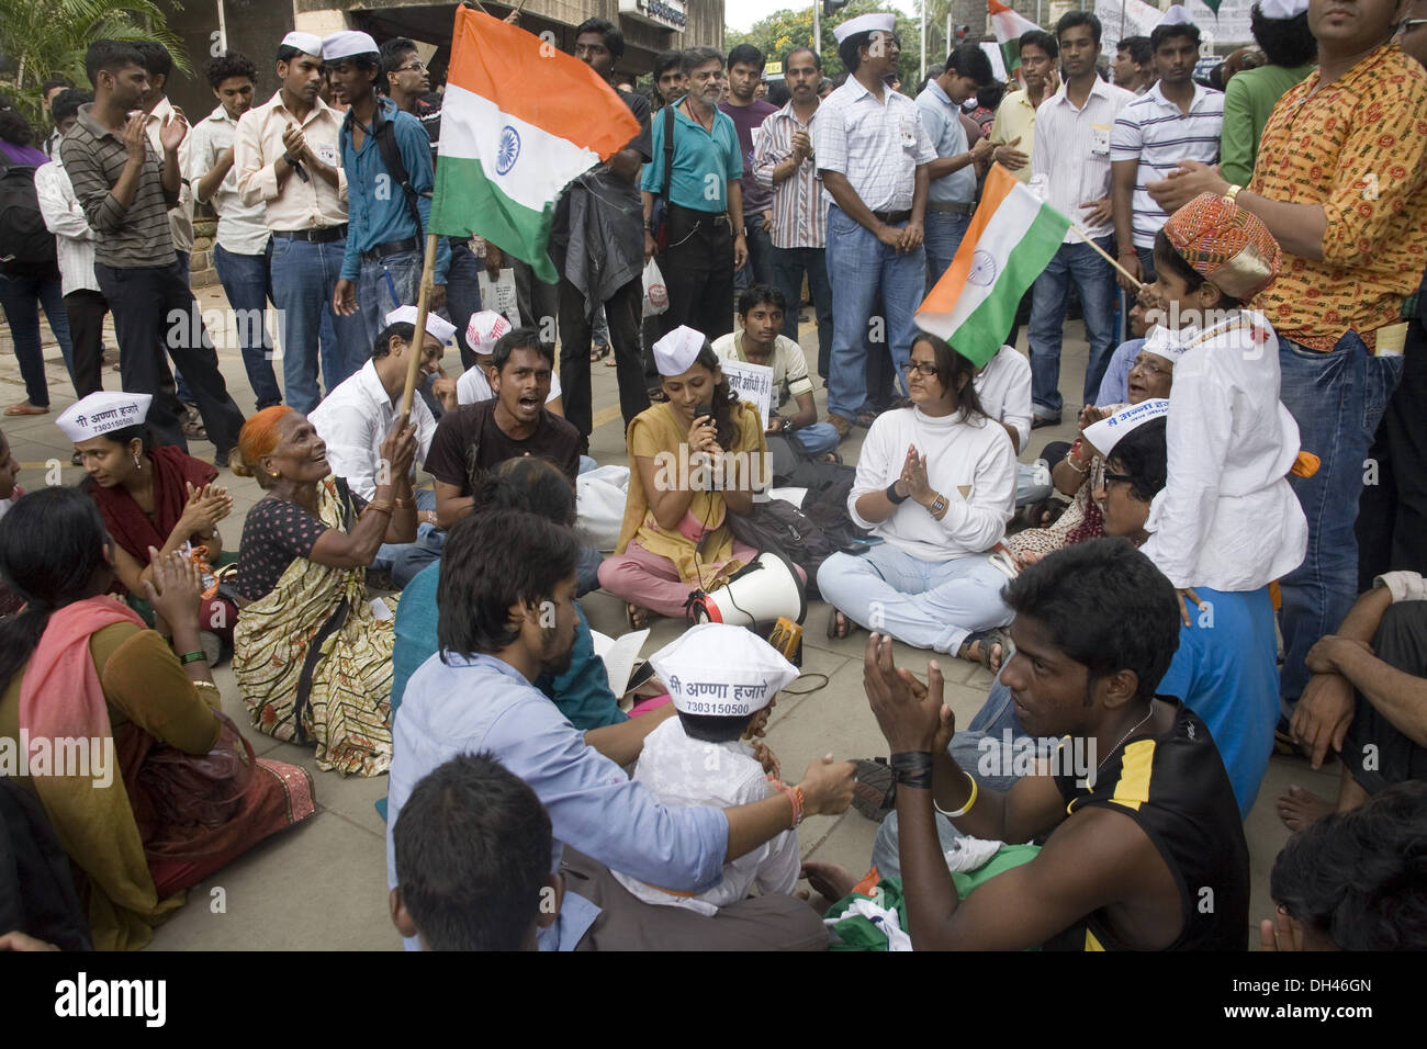
[{"label": "grey paved stone ground visible between the people", "polygon": [[[201,288],[200,307],[225,310],[227,301],[218,285]],[[811,317],[805,317],[811,320]],[[816,361],[816,331],[802,325],[802,345],[809,361]],[[80,471],[70,467],[70,445],[54,427],[54,417],[73,402],[73,387],[60,358],[59,347],[46,328],[46,364],[53,407],[50,415],[36,418],[0,420],[6,437],[23,465],[20,484],[27,490],[47,482],[54,470],[64,484],[80,480]],[[113,331],[106,345],[116,345]],[[1020,347],[1025,351],[1025,331]],[[251,412],[254,398],[247,384],[235,344],[220,341],[220,358],[228,388],[244,412]],[[459,360],[454,350],[447,353],[447,367],[457,374]],[[1075,430],[1075,407],[1086,364],[1086,343],[1082,325],[1069,323],[1063,354],[1060,387],[1067,394],[1065,424],[1037,430],[1023,461],[1033,461],[1050,440],[1070,440]],[[601,464],[624,464],[624,432],[619,422],[615,370],[595,365],[594,404],[596,428],[591,438],[591,452]],[[280,368],[281,374],[281,368]],[[118,388],[118,374],[106,370],[104,385]],[[826,408],[823,390],[818,390],[819,411]],[[0,404],[9,405],[24,398],[10,333],[0,325]],[[853,431],[843,442],[842,454],[856,462],[863,431]],[[198,442],[190,450],[200,458],[213,458],[213,445]],[[235,548],[243,529],[243,518],[261,498],[255,481],[233,477],[227,471],[221,480],[234,497],[234,512],[223,527],[230,548]],[[584,599],[589,622],[606,634],[625,631],[621,604],[608,594],[595,592]],[[825,627],[828,607],[812,602],[808,608],[803,637],[803,671],[828,675],[828,684],[805,695],[783,694],[771,719],[768,742],[778,754],[788,776],[823,754],[838,758],[860,758],[886,754],[886,744],[878,732],[876,721],[868,709],[862,691],[862,649],[866,634],[842,641],[828,641]],[[644,654],[656,651],[681,629],[674,621],[656,621],[645,644]],[[896,647],[899,665],[925,672],[928,654]],[[959,724],[966,724],[980,708],[990,675],[979,667],[942,658],[946,675],[948,702],[956,711]],[[223,691],[223,708],[244,726],[260,756],[288,761],[308,768],[315,778],[318,812],[303,826],[268,839],[245,856],[190,891],[188,906],[161,926],[151,949],[398,949],[400,939],[387,912],[385,826],[372,802],[387,792],[385,776],[377,779],[344,779],[335,772],[318,772],[311,751],[280,744],[247,728],[248,718],[227,667],[214,678]],[[795,688],[809,688],[819,681],[806,678]],[[1337,769],[1313,772],[1303,762],[1274,758],[1259,792],[1257,804],[1249,815],[1244,831],[1249,838],[1253,906],[1246,938],[1257,948],[1254,925],[1273,913],[1269,898],[1269,872],[1273,859],[1289,838],[1273,809],[1274,799],[1289,784],[1301,784],[1324,796],[1337,794]],[[799,843],[803,858],[845,865],[860,875],[869,865],[876,825],[849,811],[843,816],[813,816],[803,822]],[[220,892],[221,889],[221,892]],[[223,906],[220,908],[220,898]]]}]

